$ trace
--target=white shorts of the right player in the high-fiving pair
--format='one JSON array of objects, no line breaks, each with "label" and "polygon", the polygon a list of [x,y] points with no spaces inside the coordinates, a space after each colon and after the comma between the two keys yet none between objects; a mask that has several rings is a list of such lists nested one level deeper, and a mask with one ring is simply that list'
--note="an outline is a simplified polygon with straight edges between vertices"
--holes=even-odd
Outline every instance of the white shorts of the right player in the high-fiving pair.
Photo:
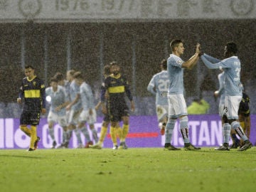
[{"label": "white shorts of the right player in the high-fiving pair", "polygon": [[238,109],[242,96],[225,96],[224,114],[228,119],[238,119]]}]

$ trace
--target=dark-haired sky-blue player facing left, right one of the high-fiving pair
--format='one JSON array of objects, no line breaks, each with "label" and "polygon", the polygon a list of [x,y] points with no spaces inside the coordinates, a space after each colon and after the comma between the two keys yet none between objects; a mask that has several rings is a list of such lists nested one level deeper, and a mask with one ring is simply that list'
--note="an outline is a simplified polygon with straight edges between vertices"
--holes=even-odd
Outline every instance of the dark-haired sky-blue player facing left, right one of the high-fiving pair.
[{"label": "dark-haired sky-blue player facing left, right one of the high-fiving pair", "polygon": [[216,150],[225,151],[229,149],[229,139],[231,129],[235,130],[238,136],[244,141],[238,151],[245,151],[252,147],[252,143],[242,131],[242,127],[238,122],[238,108],[242,100],[242,90],[240,88],[240,70],[241,64],[238,56],[237,45],[234,42],[228,42],[224,48],[224,60],[218,60],[204,53],[201,55],[201,60],[209,69],[222,68],[224,70],[225,80],[225,103],[223,113],[223,145]]}]

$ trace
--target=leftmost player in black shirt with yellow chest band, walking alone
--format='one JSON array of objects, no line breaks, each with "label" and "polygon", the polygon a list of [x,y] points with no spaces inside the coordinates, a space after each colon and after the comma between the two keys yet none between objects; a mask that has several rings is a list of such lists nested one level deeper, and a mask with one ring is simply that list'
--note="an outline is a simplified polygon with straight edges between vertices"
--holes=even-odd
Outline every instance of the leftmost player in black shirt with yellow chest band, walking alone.
[{"label": "leftmost player in black shirt with yellow chest band, walking alone", "polygon": [[[36,127],[40,122],[40,114],[46,113],[46,87],[43,80],[34,74],[33,66],[25,66],[26,78],[21,82],[17,102],[21,104],[24,100],[21,112],[19,128],[31,137],[28,151],[34,151],[38,147],[40,137],[37,137]],[[28,124],[31,129],[28,129]]]}]

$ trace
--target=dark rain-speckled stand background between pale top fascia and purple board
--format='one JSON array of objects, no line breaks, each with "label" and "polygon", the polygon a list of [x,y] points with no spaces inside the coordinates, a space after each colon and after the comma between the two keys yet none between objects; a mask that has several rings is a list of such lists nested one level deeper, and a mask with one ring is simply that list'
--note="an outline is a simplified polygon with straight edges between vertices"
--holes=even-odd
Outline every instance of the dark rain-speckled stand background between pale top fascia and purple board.
[{"label": "dark rain-speckled stand background between pale top fascia and purple board", "polygon": [[[205,53],[223,58],[227,41],[239,45],[241,79],[246,90],[254,90],[256,47],[255,19],[203,20],[169,19],[156,22],[112,23],[0,23],[0,102],[16,102],[23,78],[23,65],[31,64],[46,85],[56,72],[81,70],[97,92],[102,66],[117,60],[137,97],[151,96],[146,90],[159,62],[171,52],[173,38],[185,41],[183,59],[188,59],[200,42]],[[185,70],[186,96],[218,88],[218,70],[199,62]],[[251,97],[253,95],[250,95]],[[97,98],[97,96],[96,96]]]}]

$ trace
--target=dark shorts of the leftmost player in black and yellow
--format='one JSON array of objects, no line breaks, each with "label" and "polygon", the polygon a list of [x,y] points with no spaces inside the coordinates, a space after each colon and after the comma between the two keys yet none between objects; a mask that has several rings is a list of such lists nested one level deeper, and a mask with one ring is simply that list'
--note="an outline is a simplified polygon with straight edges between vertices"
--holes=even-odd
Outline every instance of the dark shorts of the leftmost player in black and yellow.
[{"label": "dark shorts of the leftmost player in black and yellow", "polygon": [[40,122],[40,111],[23,110],[21,113],[20,124],[38,125]]}]

